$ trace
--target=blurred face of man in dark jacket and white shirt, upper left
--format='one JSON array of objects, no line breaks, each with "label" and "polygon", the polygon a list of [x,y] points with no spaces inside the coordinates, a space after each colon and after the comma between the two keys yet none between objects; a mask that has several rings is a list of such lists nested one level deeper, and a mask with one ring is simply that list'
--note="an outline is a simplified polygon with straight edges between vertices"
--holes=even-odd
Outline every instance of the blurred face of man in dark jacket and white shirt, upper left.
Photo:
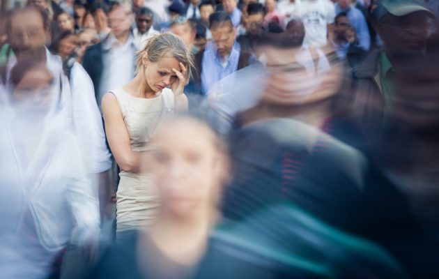
[{"label": "blurred face of man in dark jacket and white shirt, upper left", "polygon": [[109,27],[116,38],[126,36],[130,33],[134,16],[128,3],[115,2],[109,9]]}]

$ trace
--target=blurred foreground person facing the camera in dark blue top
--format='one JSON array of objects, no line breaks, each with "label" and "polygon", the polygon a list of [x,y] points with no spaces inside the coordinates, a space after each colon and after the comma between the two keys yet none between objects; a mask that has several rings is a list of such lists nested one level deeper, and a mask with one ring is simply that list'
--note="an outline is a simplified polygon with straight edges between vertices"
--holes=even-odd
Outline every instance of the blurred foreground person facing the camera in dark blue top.
[{"label": "blurred foreground person facing the camera in dark blue top", "polygon": [[109,251],[91,278],[266,278],[210,239],[228,165],[213,130],[182,116],[157,128],[151,144],[144,165],[155,176],[157,218],[148,232]]}]

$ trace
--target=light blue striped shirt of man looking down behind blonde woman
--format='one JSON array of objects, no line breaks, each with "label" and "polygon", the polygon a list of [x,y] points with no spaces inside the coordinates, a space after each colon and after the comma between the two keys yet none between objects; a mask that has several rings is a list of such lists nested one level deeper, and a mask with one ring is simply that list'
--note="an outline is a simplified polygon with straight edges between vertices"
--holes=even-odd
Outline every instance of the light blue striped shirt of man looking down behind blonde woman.
[{"label": "light blue striped shirt of man looking down behind blonde woman", "polygon": [[213,84],[224,79],[224,77],[238,70],[240,45],[235,43],[226,62],[217,52],[215,43],[210,42],[206,45],[201,63],[201,89],[203,95],[207,95]]}]

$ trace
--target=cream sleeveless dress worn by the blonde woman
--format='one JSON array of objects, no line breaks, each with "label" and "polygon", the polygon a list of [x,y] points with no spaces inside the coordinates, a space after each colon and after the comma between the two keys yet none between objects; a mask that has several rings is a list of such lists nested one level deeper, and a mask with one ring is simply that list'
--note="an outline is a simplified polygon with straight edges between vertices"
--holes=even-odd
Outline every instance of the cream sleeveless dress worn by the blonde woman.
[{"label": "cream sleeveless dress worn by the blonde woman", "polygon": [[[111,93],[121,108],[132,151],[151,150],[148,141],[157,124],[166,114],[175,112],[174,93],[171,89],[163,89],[155,98],[136,98],[121,87]],[[122,171],[119,176],[116,233],[148,225],[155,218],[159,205],[151,174]]]}]

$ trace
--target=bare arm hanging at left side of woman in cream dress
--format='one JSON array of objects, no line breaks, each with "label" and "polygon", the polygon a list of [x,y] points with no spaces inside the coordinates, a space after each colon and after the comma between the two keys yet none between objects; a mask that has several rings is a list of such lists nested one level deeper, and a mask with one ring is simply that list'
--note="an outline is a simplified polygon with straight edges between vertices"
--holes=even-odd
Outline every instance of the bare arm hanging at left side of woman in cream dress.
[{"label": "bare arm hanging at left side of woman in cream dress", "polygon": [[116,163],[125,172],[139,172],[139,161],[143,152],[131,150],[130,135],[116,96],[112,93],[107,93],[102,98],[102,112],[105,119],[105,133]]}]

